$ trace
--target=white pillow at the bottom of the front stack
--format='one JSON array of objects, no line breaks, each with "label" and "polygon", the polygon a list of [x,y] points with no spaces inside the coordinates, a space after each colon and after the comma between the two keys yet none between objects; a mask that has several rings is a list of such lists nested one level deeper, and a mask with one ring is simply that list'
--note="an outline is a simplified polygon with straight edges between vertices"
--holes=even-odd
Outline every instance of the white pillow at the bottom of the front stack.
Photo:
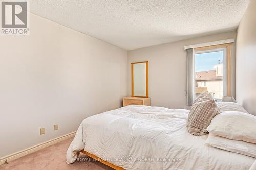
[{"label": "white pillow at the bottom of the front stack", "polygon": [[209,136],[205,143],[211,145],[212,147],[256,158],[256,144],[254,143],[231,140],[211,133],[209,133]]}]

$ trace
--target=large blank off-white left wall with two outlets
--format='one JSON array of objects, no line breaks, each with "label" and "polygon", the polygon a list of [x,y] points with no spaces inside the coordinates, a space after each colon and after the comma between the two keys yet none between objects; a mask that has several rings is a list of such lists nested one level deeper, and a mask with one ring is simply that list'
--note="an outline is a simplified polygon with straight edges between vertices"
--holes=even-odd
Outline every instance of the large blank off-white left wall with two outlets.
[{"label": "large blank off-white left wall with two outlets", "polygon": [[0,52],[0,157],[76,131],[127,94],[125,50],[36,15],[29,36],[0,36]]}]

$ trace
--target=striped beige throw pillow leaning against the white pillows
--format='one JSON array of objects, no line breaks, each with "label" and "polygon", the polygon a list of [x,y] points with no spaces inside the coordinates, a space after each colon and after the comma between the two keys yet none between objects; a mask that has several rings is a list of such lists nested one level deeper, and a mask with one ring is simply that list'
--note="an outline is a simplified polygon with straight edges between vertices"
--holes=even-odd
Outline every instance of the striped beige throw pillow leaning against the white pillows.
[{"label": "striped beige throw pillow leaning against the white pillows", "polygon": [[195,102],[188,114],[188,132],[194,136],[207,134],[206,128],[210,125],[211,119],[219,113],[220,108],[209,95]]}]

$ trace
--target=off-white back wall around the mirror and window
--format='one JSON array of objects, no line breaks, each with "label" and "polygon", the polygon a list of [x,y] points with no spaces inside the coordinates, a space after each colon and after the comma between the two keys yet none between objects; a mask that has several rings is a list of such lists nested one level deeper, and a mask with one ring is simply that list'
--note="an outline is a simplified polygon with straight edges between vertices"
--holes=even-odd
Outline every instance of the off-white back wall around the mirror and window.
[{"label": "off-white back wall around the mirror and window", "polygon": [[[131,95],[131,63],[148,61],[149,96],[152,106],[187,108],[186,106],[186,53],[184,46],[236,38],[236,32],[216,34],[174,43],[156,45],[127,52],[127,94]],[[236,45],[231,46],[232,94],[235,93]]]}]

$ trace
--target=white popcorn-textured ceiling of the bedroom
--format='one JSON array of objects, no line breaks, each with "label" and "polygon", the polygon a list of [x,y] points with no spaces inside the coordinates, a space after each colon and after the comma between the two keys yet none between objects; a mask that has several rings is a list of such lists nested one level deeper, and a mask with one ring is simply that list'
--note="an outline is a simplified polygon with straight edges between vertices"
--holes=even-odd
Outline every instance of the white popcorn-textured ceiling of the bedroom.
[{"label": "white popcorn-textured ceiling of the bedroom", "polygon": [[30,11],[125,50],[237,28],[250,0],[31,0]]}]

